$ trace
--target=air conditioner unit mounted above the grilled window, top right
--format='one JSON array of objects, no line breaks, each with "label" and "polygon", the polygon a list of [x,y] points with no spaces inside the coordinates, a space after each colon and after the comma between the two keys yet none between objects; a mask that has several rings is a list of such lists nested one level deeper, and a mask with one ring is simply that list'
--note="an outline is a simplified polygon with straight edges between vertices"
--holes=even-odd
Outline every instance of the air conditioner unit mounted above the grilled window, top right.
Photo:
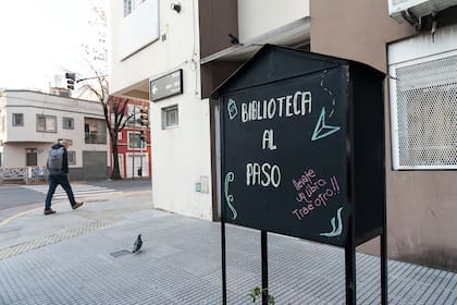
[{"label": "air conditioner unit mounted above the grilled window, top right", "polygon": [[404,22],[404,11],[422,17],[454,5],[457,5],[457,0],[388,0],[388,14],[397,22]]}]

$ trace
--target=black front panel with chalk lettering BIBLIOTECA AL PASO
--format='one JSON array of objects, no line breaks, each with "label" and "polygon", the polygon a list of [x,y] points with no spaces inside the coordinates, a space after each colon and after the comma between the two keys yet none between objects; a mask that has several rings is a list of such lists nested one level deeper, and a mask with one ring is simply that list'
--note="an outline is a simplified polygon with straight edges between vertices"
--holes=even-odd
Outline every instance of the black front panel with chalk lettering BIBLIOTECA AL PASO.
[{"label": "black front panel with chalk lettering BIBLIOTECA AL PASO", "polygon": [[342,244],[347,90],[341,69],[224,97],[226,221]]}]

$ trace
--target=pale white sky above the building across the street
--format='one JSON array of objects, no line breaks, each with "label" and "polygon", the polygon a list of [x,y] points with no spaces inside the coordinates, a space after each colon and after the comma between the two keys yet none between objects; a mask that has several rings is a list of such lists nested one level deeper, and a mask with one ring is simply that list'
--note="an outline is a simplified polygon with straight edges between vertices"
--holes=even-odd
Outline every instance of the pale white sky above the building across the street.
[{"label": "pale white sky above the building across the street", "polygon": [[1,0],[0,88],[38,89],[49,86],[54,74],[90,73],[82,45],[96,44],[91,8],[104,2]]}]

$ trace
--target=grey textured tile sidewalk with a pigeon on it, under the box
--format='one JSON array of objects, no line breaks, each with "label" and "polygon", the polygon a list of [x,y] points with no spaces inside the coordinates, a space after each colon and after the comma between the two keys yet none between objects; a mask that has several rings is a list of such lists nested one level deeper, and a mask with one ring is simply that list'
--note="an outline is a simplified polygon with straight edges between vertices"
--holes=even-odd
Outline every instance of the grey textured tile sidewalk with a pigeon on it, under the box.
[{"label": "grey textured tile sidewalk with a pigeon on it, under the box", "polygon": [[[54,204],[0,223],[0,304],[222,304],[220,223],[151,208],[150,192]],[[144,246],[129,254],[137,234]],[[276,305],[345,304],[341,248],[269,234]],[[260,233],[226,227],[227,304],[252,304]],[[379,258],[357,255],[357,304],[380,304]],[[457,274],[388,261],[388,304],[457,304]],[[257,304],[260,304],[258,302]]]}]

